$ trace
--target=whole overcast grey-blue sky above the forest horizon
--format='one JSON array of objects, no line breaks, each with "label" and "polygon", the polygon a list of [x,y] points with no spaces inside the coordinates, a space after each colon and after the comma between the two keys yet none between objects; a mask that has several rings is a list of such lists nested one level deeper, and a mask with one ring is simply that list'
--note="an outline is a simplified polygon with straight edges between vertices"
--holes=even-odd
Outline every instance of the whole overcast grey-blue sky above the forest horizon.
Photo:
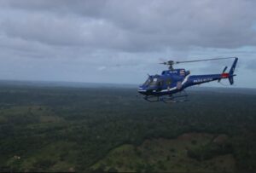
[{"label": "whole overcast grey-blue sky above the forest horizon", "polygon": [[[142,84],[167,68],[163,61],[236,56],[232,87],[256,88],[255,7],[254,0],[0,0],[0,79]],[[231,64],[175,67],[196,75]]]}]

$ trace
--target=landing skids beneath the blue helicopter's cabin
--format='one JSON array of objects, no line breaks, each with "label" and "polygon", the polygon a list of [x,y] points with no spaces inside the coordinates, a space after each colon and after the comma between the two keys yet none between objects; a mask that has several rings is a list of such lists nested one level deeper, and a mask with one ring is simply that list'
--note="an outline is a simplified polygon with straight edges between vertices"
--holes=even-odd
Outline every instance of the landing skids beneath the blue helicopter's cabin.
[{"label": "landing skids beneath the blue helicopter's cabin", "polygon": [[162,101],[165,103],[178,103],[178,102],[189,101],[187,98],[188,98],[188,94],[184,90],[175,95],[168,95],[168,96],[149,95],[149,96],[143,97],[144,100],[149,101],[149,102]]}]

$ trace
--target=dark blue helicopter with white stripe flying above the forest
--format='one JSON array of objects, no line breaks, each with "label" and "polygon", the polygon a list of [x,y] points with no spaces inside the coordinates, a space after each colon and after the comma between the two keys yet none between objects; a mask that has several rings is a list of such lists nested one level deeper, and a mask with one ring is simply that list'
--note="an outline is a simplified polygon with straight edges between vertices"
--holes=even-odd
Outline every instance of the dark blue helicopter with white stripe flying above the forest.
[{"label": "dark blue helicopter with white stripe flying above the forest", "polygon": [[[203,75],[190,75],[189,71],[185,69],[174,69],[173,66],[181,63],[199,62],[199,61],[217,61],[224,59],[235,59],[230,72],[226,72],[228,66],[224,67],[222,73],[219,74],[203,74]],[[183,102],[188,101],[188,94],[184,89],[198,84],[209,83],[212,81],[220,82],[222,79],[227,78],[230,84],[234,84],[234,74],[237,57],[225,58],[212,58],[205,60],[194,61],[166,61],[160,64],[168,66],[168,70],[161,72],[161,74],[148,75],[146,82],[139,86],[138,93],[143,95],[143,99],[149,102]]]}]

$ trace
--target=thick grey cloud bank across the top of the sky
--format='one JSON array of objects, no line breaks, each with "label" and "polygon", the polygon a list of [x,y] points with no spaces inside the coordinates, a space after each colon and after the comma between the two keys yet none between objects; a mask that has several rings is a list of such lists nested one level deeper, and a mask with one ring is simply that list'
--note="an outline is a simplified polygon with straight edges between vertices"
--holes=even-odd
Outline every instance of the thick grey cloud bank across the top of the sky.
[{"label": "thick grey cloud bank across the top of the sky", "polygon": [[[3,1],[3,32],[57,45],[148,51],[255,45],[255,1]],[[21,10],[21,11],[19,11]],[[40,13],[41,12],[41,13]],[[26,14],[25,14],[26,13]]]}]

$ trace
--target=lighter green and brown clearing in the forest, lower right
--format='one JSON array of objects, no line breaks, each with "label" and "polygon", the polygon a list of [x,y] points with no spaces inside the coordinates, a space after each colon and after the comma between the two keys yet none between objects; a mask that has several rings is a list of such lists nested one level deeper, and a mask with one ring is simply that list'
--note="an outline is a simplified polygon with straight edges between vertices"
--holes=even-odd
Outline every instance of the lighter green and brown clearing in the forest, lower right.
[{"label": "lighter green and brown clearing in the forest, lower right", "polygon": [[[96,172],[234,172],[236,160],[225,135],[186,133],[121,145],[91,166]],[[226,147],[225,147],[226,146]]]}]

